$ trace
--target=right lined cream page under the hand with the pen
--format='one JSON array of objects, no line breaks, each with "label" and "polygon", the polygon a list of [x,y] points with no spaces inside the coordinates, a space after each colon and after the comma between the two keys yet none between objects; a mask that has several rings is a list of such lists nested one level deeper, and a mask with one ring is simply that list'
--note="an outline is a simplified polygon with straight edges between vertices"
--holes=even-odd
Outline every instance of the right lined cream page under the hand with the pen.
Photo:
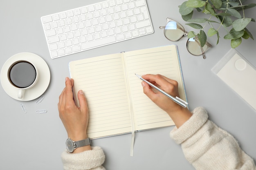
[{"label": "right lined cream page under the hand with the pen", "polygon": [[174,125],[169,115],[154,104],[144,93],[141,80],[135,76],[161,74],[179,83],[180,98],[186,101],[179,58],[175,45],[125,53],[129,88],[133,104],[135,130]]}]

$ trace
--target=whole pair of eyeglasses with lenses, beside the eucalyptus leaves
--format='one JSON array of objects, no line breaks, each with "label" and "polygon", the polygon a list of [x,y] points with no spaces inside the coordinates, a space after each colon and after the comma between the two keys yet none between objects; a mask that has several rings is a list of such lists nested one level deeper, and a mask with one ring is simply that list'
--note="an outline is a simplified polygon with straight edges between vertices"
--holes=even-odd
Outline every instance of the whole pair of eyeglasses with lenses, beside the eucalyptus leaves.
[{"label": "whole pair of eyeglasses with lenses, beside the eucalyptus leaves", "polygon": [[[184,37],[184,35],[188,35],[188,32],[185,31],[184,27],[175,20],[171,18],[166,18],[167,22],[165,26],[159,26],[159,29],[164,29],[164,36],[170,41],[178,41]],[[211,48],[211,44],[206,42],[203,47],[201,47],[199,39],[197,36],[193,38],[189,38],[186,42],[186,49],[192,55],[203,55],[205,59],[205,51]]]}]

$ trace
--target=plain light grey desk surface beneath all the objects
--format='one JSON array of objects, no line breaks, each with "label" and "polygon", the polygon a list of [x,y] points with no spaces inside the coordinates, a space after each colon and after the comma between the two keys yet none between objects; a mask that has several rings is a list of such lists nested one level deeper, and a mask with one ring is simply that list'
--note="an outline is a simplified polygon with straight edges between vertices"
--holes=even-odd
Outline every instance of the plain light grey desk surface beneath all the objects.
[{"label": "plain light grey desk surface beneath all the objects", "polygon": [[[0,88],[0,169],[1,170],[61,170],[61,152],[65,150],[67,138],[65,128],[58,117],[58,96],[69,76],[68,63],[86,57],[94,57],[120,51],[132,51],[155,46],[173,44],[166,40],[163,30],[166,18],[170,17],[184,24],[178,10],[182,2],[176,0],[147,0],[155,33],[125,42],[119,42],[98,49],[74,55],[51,59],[45,42],[40,17],[101,0],[9,0],[0,5],[0,66],[12,55],[31,52],[41,56],[51,71],[51,82],[40,104],[36,100],[22,102],[28,112],[23,113],[20,101],[12,99]],[[248,0],[252,2],[253,0]],[[245,12],[247,17],[256,18],[256,10]],[[256,24],[248,29],[256,38]],[[185,25],[186,30],[191,27]],[[207,59],[195,57],[186,51],[186,38],[175,42],[179,48],[184,81],[190,109],[203,106],[209,118],[218,126],[230,132],[239,141],[243,150],[256,160],[256,112],[222,82],[211,68],[231,49],[230,42],[220,43],[210,38],[213,48],[207,51]],[[256,41],[243,40],[237,50],[256,66]],[[255,77],[254,77],[255,78]],[[35,110],[47,109],[45,114]],[[130,157],[131,135],[120,135],[92,141],[93,146],[101,146],[106,154],[103,164],[108,170],[193,170],[186,161],[179,145],[169,137],[172,127],[138,132],[135,135],[134,156]]]}]

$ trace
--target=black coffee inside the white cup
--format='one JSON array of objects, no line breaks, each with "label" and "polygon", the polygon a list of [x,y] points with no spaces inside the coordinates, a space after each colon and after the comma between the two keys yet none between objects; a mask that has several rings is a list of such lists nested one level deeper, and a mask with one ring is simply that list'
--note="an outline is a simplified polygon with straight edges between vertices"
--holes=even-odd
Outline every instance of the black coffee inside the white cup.
[{"label": "black coffee inside the white cup", "polygon": [[19,61],[9,69],[8,78],[13,86],[26,88],[35,81],[36,69],[29,62]]}]

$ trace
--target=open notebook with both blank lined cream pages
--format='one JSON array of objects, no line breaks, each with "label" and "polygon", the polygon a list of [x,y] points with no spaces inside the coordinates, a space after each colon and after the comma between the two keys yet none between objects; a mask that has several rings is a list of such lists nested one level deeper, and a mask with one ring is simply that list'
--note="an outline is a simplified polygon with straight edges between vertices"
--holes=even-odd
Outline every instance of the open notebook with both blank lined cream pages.
[{"label": "open notebook with both blank lined cream pages", "polygon": [[135,73],[175,79],[180,98],[186,101],[176,45],[72,61],[69,68],[77,106],[79,90],[88,101],[87,133],[92,139],[174,125],[168,114],[143,93]]}]

